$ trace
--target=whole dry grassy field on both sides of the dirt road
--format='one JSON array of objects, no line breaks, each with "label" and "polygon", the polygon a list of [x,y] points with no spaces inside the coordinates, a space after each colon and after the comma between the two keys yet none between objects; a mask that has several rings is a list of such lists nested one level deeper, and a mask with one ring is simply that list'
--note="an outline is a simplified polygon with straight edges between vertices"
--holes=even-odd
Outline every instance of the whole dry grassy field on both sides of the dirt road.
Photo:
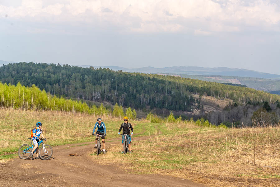
[{"label": "whole dry grassy field on both sides of the dirt road", "polygon": [[[0,109],[1,162],[19,159],[16,151],[29,143],[36,122],[51,146],[91,142],[96,116],[57,111]],[[106,141],[117,135],[121,119],[104,118]],[[130,121],[134,128],[131,155],[122,155],[121,144],[112,144],[107,154],[93,163],[122,166],[136,174],[175,175],[208,186],[279,186],[280,126],[270,128],[222,129],[192,123],[157,124]],[[85,146],[88,144],[85,144]],[[83,145],[81,145],[83,146]],[[238,181],[238,183],[237,183]]]}]

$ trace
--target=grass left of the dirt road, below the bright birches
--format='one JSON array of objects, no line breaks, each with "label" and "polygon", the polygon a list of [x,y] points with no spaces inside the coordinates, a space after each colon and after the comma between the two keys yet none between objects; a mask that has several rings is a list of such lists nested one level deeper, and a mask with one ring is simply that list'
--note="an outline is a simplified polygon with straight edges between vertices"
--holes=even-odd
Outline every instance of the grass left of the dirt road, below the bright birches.
[{"label": "grass left of the dirt road, below the bright birches", "polygon": [[[46,143],[55,146],[93,141],[92,130],[96,119],[97,116],[80,113],[0,109],[0,160],[14,157],[20,145],[30,144],[27,138],[37,122],[42,123]],[[102,119],[108,134],[106,138],[117,137],[122,119]],[[138,121],[130,123],[137,126]]]}]

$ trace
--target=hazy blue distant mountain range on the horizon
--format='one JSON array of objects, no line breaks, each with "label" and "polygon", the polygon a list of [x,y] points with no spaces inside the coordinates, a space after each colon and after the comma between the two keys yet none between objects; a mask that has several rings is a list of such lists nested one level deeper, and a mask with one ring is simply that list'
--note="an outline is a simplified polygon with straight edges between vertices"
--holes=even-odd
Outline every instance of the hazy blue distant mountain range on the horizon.
[{"label": "hazy blue distant mountain range on the horizon", "polygon": [[[90,66],[82,66],[90,67]],[[264,72],[257,72],[248,69],[238,68],[202,68],[195,66],[173,66],[170,68],[123,68],[119,66],[93,66],[94,68],[109,68],[115,71],[122,70],[125,72],[141,72],[141,73],[173,73],[173,74],[188,74],[188,75],[222,75],[222,76],[236,76],[236,77],[257,77],[266,79],[280,79],[280,75],[270,74]]]}]

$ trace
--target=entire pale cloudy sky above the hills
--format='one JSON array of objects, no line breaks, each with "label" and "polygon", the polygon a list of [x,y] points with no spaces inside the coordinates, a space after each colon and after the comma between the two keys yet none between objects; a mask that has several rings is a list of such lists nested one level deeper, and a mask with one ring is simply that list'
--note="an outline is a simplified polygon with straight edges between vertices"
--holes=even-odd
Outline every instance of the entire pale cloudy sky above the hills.
[{"label": "entire pale cloudy sky above the hills", "polygon": [[0,60],[280,74],[278,0],[0,0]]}]

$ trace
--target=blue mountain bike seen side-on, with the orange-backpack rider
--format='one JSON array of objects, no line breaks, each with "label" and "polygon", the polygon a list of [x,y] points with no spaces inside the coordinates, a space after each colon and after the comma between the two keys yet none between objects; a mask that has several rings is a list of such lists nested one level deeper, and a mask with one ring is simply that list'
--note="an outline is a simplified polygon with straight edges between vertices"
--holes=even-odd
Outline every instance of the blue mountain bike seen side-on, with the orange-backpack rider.
[{"label": "blue mountain bike seen side-on, with the orange-backpack rider", "polygon": [[[21,159],[27,159],[30,157],[30,152],[33,150],[33,147],[35,146],[34,143],[32,142],[32,138],[28,138],[31,141],[31,146],[28,144],[23,144],[21,147],[18,149],[18,156]],[[38,142],[38,147],[34,150],[33,153],[36,152],[37,149],[39,149],[40,144],[42,144],[42,147],[39,149],[39,157],[42,160],[48,160],[52,155],[53,155],[53,148],[50,145],[44,144],[45,139],[41,139]]]}]

